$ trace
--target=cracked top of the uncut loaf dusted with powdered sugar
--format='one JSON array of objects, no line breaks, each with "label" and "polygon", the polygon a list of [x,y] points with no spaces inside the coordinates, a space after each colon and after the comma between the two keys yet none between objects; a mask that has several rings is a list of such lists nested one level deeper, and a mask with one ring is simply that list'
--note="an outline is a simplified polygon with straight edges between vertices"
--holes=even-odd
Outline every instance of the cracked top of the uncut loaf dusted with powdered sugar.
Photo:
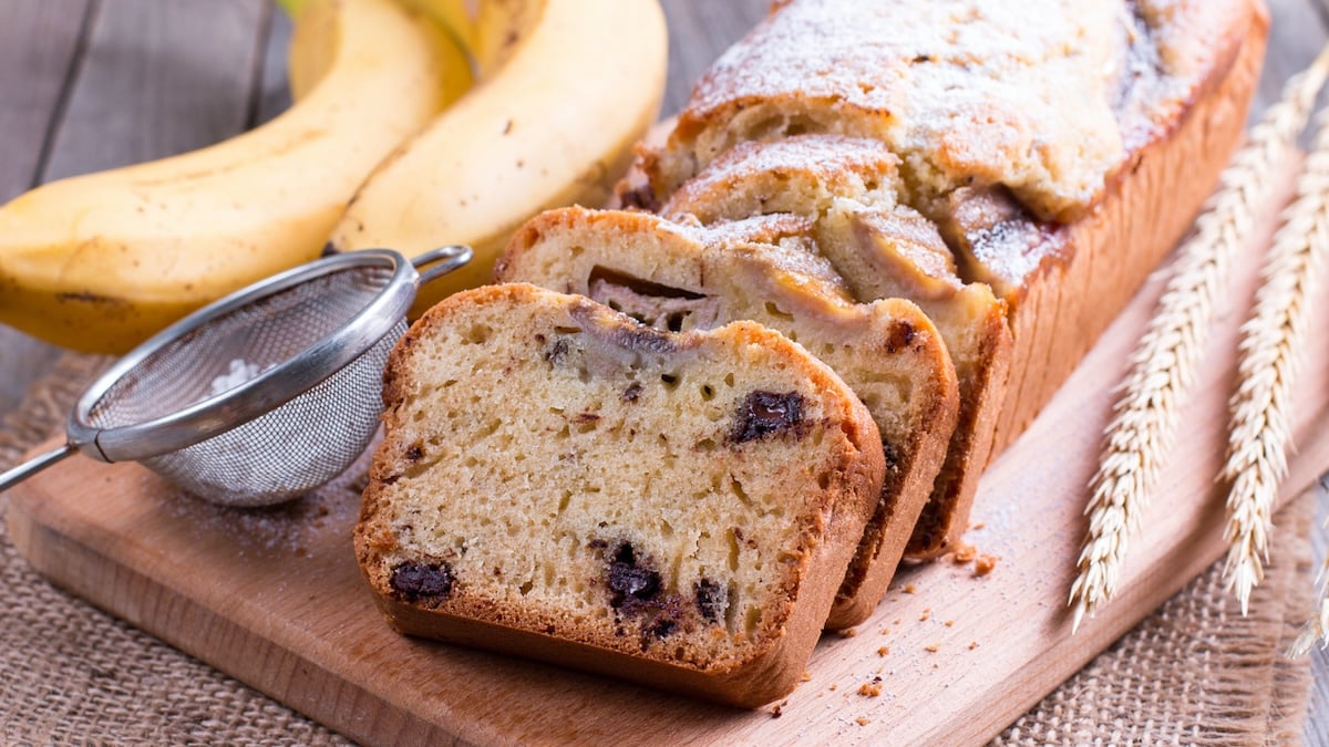
[{"label": "cracked top of the uncut loaf dusted with powdered sugar", "polygon": [[1212,64],[1197,39],[1244,3],[789,0],[700,81],[664,170],[680,182],[734,142],[831,132],[884,142],[924,197],[1001,183],[1073,219],[1135,145],[1119,116],[1184,105]]}]

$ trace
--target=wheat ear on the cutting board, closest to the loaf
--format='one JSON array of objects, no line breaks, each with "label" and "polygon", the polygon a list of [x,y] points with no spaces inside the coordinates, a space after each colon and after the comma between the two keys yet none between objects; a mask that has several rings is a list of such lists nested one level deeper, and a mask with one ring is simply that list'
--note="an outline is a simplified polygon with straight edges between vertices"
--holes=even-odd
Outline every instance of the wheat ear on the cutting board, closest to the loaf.
[{"label": "wheat ear on the cutting board, closest to the loaf", "polygon": [[1073,631],[1116,593],[1130,533],[1138,529],[1159,468],[1172,451],[1181,403],[1208,342],[1215,300],[1228,286],[1232,259],[1251,235],[1257,210],[1268,203],[1276,167],[1305,128],[1326,74],[1329,47],[1286,82],[1281,100],[1252,128],[1249,141],[1224,169],[1217,191],[1177,249],[1158,312],[1131,356],[1124,393],[1090,480],[1084,506],[1088,533],[1067,601],[1074,607]]}]

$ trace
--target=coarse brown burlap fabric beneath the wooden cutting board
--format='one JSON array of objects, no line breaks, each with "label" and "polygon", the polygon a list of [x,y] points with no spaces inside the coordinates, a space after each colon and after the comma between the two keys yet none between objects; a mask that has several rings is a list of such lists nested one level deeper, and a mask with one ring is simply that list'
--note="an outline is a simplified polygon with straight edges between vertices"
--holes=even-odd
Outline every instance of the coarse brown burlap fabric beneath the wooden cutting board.
[{"label": "coarse brown burlap fabric beneath the wooden cutting board", "polygon": [[[64,355],[0,431],[0,468],[60,432],[109,360]],[[1310,605],[1313,496],[1278,516],[1273,568],[1241,617],[1215,565],[994,744],[1286,744],[1305,661],[1281,657]],[[0,517],[8,501],[0,496]],[[3,526],[0,521],[0,526]],[[346,740],[52,587],[0,534],[0,743],[332,744]]]}]

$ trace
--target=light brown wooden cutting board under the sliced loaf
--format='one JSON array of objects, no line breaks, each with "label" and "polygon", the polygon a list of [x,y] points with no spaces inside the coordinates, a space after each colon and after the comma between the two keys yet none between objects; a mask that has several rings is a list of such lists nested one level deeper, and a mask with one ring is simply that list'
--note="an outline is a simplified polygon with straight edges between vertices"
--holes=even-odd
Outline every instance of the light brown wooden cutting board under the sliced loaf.
[{"label": "light brown wooden cutting board under the sliced loaf", "polygon": [[[1272,217],[1267,223],[1257,246],[1268,243]],[[1066,595],[1086,529],[1084,485],[1162,275],[985,475],[966,540],[997,558],[991,573],[950,560],[909,569],[855,635],[823,638],[792,696],[758,711],[392,633],[352,557],[354,484],[235,510],[178,494],[137,464],[74,457],[13,490],[9,533],[58,586],[367,743],[625,734],[642,743],[982,742],[1223,553],[1224,486],[1215,476],[1259,255],[1247,253],[1235,268],[1244,279],[1220,310],[1114,603],[1071,637]],[[1329,330],[1329,302],[1320,307],[1313,328]],[[1284,497],[1329,467],[1329,346],[1312,347]]]}]

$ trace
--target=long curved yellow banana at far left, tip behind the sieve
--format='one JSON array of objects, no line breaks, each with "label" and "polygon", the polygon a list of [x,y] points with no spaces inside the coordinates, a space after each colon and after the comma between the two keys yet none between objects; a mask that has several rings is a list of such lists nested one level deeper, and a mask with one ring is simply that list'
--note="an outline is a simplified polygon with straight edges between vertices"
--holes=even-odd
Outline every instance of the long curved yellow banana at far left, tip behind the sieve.
[{"label": "long curved yellow banana at far left, tip behind the sieve", "polygon": [[449,35],[392,0],[310,1],[291,60],[307,90],[271,122],[0,206],[0,322],[65,347],[124,352],[318,257],[364,177],[472,77]]}]

